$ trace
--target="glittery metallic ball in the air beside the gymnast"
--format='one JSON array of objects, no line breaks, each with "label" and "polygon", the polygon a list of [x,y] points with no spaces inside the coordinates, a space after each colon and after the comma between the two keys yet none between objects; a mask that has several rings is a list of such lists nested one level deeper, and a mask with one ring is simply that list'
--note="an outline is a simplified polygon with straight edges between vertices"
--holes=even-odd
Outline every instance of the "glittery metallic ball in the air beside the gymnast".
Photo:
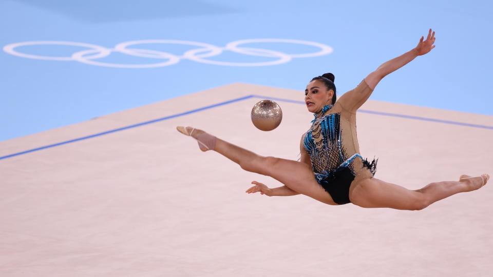
[{"label": "glittery metallic ball in the air beside the gymnast", "polygon": [[272,100],[262,100],[252,109],[252,122],[262,131],[271,131],[281,124],[281,107]]}]

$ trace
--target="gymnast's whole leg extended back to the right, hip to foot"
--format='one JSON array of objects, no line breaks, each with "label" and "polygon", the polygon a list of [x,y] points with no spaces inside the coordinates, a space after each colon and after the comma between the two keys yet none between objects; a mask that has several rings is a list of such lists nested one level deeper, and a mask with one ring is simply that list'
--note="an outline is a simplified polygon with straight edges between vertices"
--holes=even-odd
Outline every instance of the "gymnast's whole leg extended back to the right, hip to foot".
[{"label": "gymnast's whole leg extended back to the right, hip to foot", "polygon": [[486,176],[479,176],[461,179],[461,181],[431,183],[421,189],[409,190],[371,178],[355,184],[356,187],[352,190],[350,199],[353,204],[364,208],[422,210],[453,194],[479,189],[486,181]]}]

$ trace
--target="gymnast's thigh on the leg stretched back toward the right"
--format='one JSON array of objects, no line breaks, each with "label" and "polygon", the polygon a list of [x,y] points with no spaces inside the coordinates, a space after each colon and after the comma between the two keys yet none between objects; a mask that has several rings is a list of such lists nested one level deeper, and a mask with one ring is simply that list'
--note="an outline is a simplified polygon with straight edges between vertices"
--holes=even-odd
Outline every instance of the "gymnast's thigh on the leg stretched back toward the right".
[{"label": "gymnast's thigh on the leg stretched back toward the right", "polygon": [[350,199],[353,204],[360,207],[399,210],[421,210],[426,207],[423,193],[376,178],[361,180],[355,186]]}]

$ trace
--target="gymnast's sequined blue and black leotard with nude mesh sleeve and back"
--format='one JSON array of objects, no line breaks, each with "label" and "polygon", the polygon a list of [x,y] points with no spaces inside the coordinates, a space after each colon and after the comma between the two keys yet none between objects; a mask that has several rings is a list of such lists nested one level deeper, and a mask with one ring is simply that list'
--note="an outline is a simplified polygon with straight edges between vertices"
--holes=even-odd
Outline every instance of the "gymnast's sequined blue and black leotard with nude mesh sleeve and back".
[{"label": "gymnast's sequined blue and black leotard with nude mesh sleeve and back", "polygon": [[326,105],[315,113],[312,126],[302,138],[316,181],[337,204],[350,203],[351,185],[375,173],[376,161],[370,164],[363,160],[356,137],[356,110],[371,92],[363,80],[334,105]]}]

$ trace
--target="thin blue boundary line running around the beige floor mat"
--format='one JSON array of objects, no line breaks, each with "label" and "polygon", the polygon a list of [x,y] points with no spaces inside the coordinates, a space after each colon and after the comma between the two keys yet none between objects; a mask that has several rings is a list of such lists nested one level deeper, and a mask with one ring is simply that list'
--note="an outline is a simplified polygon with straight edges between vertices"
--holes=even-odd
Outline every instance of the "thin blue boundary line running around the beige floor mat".
[{"label": "thin blue boundary line running around the beige floor mat", "polygon": [[[210,105],[210,106],[205,106],[205,107],[198,108],[198,109],[195,109],[195,110],[186,111],[186,112],[177,113],[177,114],[174,114],[174,115],[169,115],[169,116],[161,117],[161,118],[158,118],[156,120],[146,121],[146,122],[142,122],[142,123],[138,123],[138,124],[134,124],[134,125],[130,125],[130,126],[118,128],[118,129],[109,130],[109,131],[106,131],[106,132],[101,132],[101,133],[92,134],[92,135],[88,135],[88,136],[84,136],[84,137],[80,137],[80,138],[75,138],[74,140],[70,140],[70,141],[65,141],[65,142],[56,143],[56,144],[50,144],[50,145],[46,145],[46,146],[43,146],[43,147],[38,147],[38,148],[34,148],[34,149],[23,151],[23,152],[18,152],[18,153],[14,153],[14,154],[2,156],[2,157],[0,157],[0,160],[4,160],[4,159],[7,159],[7,158],[13,157],[13,156],[27,154],[27,153],[34,152],[34,151],[43,150],[43,149],[46,149],[46,148],[52,148],[52,147],[56,147],[56,146],[60,146],[60,145],[64,145],[64,144],[69,144],[69,143],[73,143],[73,142],[87,140],[88,138],[97,137],[97,136],[101,136],[101,135],[105,135],[105,134],[110,134],[110,133],[115,133],[115,132],[123,131],[123,130],[126,130],[126,129],[131,129],[131,128],[135,128],[135,127],[139,127],[139,126],[143,126],[143,125],[147,125],[147,124],[151,124],[151,123],[156,123],[156,122],[168,120],[170,118],[175,118],[175,117],[179,117],[179,116],[183,116],[183,115],[187,115],[187,114],[199,112],[199,111],[202,111],[202,110],[212,109],[212,108],[219,107],[219,106],[222,106],[222,105],[227,105],[227,104],[231,104],[231,103],[234,103],[234,102],[243,101],[243,100],[246,100],[246,99],[249,99],[249,98],[262,98],[262,99],[270,99],[270,100],[280,101],[280,102],[305,104],[305,102],[303,102],[303,101],[296,101],[296,100],[290,100],[290,99],[267,97],[267,96],[252,94],[252,95],[248,95],[248,96],[236,98],[236,99],[233,99],[233,100],[221,102],[221,103],[218,103],[218,104],[214,104],[214,105]],[[475,127],[475,128],[484,128],[484,129],[493,130],[493,126],[485,126],[485,125],[478,125],[478,124],[469,124],[469,123],[462,123],[462,122],[455,122],[455,121],[447,121],[447,120],[437,120],[437,119],[433,119],[433,118],[420,117],[420,116],[412,116],[412,115],[404,115],[404,114],[388,113],[388,112],[377,112],[377,111],[369,111],[369,110],[358,110],[358,112],[378,114],[378,115],[385,115],[385,116],[393,116],[393,117],[402,117],[402,118],[409,118],[409,119],[413,119],[413,120],[438,122],[438,123],[445,123],[445,124],[452,124],[452,125],[460,125],[460,126]]]}]

